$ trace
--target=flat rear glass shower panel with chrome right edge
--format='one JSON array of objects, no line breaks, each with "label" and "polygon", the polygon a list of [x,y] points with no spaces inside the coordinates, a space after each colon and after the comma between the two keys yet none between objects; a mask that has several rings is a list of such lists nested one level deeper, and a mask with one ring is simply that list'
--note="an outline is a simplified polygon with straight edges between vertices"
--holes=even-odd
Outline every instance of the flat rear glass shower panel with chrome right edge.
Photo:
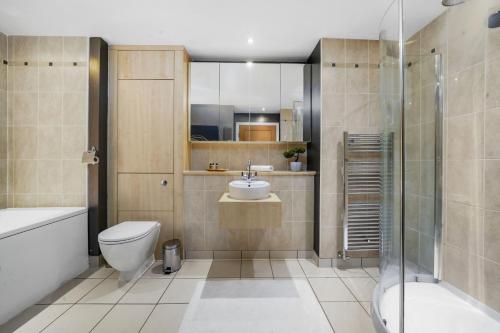
[{"label": "flat rear glass shower panel with chrome right edge", "polygon": [[442,57],[405,42],[405,281],[435,282],[441,272]]}]

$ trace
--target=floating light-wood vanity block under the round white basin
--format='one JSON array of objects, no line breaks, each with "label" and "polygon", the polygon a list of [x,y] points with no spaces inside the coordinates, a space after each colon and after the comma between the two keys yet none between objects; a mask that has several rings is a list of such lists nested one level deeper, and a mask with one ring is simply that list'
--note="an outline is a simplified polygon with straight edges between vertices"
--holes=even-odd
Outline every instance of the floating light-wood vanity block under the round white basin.
[{"label": "floating light-wood vanity block under the round white basin", "polygon": [[238,200],[224,193],[219,199],[219,226],[223,229],[281,227],[281,200],[275,193],[260,200]]}]

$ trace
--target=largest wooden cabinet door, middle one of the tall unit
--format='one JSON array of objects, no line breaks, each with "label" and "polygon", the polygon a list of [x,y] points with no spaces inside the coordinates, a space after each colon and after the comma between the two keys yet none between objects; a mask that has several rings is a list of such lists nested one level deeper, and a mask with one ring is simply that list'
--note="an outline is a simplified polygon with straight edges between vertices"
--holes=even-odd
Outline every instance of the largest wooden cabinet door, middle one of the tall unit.
[{"label": "largest wooden cabinet door, middle one of the tall unit", "polygon": [[118,172],[173,173],[173,80],[118,80]]}]

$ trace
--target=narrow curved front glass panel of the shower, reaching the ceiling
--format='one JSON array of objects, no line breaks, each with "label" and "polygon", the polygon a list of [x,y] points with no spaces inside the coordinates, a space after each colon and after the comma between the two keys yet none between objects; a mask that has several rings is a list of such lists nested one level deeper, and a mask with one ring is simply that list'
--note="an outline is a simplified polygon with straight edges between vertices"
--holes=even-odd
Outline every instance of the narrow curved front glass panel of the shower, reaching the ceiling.
[{"label": "narrow curved front glass panel of the shower, reaching the ceiling", "polygon": [[[382,149],[382,206],[380,210],[380,280],[373,297],[373,318],[377,331],[403,332],[404,239],[402,159],[402,45],[401,0],[388,8],[380,25],[379,124]],[[392,302],[382,304],[382,296],[391,290]],[[388,309],[390,308],[390,309]],[[393,314],[392,318],[384,313]]]}]

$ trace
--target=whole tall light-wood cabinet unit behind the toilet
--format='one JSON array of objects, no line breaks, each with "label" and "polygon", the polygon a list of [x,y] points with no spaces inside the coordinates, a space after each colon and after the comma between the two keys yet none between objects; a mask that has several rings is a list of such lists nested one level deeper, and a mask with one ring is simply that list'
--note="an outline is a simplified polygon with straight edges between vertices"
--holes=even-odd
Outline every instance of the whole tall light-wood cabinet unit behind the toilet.
[{"label": "whole tall light-wood cabinet unit behind the toilet", "polygon": [[156,249],[183,238],[188,55],[177,46],[110,48],[108,221],[156,220]]}]

